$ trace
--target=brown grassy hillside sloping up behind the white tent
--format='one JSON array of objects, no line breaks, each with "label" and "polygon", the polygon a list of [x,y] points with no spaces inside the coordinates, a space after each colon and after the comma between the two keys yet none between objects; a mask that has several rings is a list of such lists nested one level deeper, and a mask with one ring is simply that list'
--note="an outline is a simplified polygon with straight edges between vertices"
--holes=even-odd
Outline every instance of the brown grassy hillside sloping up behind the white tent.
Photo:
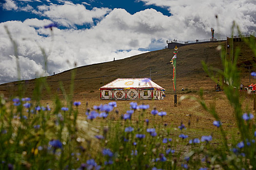
[{"label": "brown grassy hillside sloping up behind the white tent", "polygon": [[[201,61],[208,66],[223,68],[220,61],[220,52],[216,50],[218,45],[226,48],[226,42],[198,43],[180,47],[177,54],[177,91],[182,87],[188,91],[197,91],[203,87],[213,91],[214,82],[202,69]],[[240,48],[238,66],[242,73],[242,83],[249,84],[248,66],[255,63],[253,52],[244,42],[234,42],[234,49]],[[99,87],[117,78],[149,78],[166,89],[167,94],[173,93],[172,65],[170,63],[174,50],[164,49],[151,51],[122,60],[93,64],[76,68],[74,95],[86,95],[99,98]],[[235,50],[234,50],[235,51]],[[231,50],[227,51],[228,53]],[[252,67],[250,68],[252,71]],[[60,82],[64,88],[69,89],[71,70],[64,71],[47,77],[47,84],[51,93],[47,94],[43,89],[43,98],[48,99],[52,94],[61,95]],[[251,80],[251,82],[254,80]],[[24,96],[32,96],[35,88],[35,79],[12,82],[0,85],[0,93],[6,97],[17,95],[18,84],[22,83]]]}]

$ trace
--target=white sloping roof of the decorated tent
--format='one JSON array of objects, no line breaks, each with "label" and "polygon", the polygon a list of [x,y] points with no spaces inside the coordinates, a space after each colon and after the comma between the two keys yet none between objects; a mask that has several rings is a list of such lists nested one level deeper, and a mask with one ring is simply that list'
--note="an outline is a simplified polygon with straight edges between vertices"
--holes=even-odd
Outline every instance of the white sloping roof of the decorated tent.
[{"label": "white sloping roof of the decorated tent", "polygon": [[157,85],[148,78],[116,79],[113,82],[110,82],[107,85],[100,87],[100,89],[110,88],[156,88],[160,90],[165,90],[163,87]]}]

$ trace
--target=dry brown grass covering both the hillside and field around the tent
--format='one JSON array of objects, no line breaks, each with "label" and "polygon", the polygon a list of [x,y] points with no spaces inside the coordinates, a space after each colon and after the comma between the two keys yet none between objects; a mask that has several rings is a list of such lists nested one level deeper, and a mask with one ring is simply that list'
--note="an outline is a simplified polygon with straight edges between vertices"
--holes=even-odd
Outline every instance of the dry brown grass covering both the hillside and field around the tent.
[{"label": "dry brown grass covering both the hillside and field around the tent", "polygon": [[[225,47],[226,42],[198,43],[179,48],[179,53],[177,54],[177,96],[178,100],[183,95],[199,97],[199,90],[202,88],[206,103],[208,105],[216,105],[216,110],[222,120],[223,128],[230,134],[229,137],[232,137],[237,133],[237,129],[233,128],[236,123],[233,109],[223,91],[214,91],[215,82],[203,71],[201,64],[201,61],[204,61],[208,66],[223,69],[220,61],[220,51],[216,50],[218,45]],[[241,82],[244,85],[255,83],[254,79],[251,79],[251,82],[249,82],[248,66],[252,66],[255,62],[252,51],[243,42],[235,42],[234,46],[235,48],[239,47],[241,49],[238,59],[238,66],[240,67],[239,70],[242,75]],[[167,123],[170,128],[177,128],[180,123],[183,122],[189,127],[190,136],[198,137],[212,134],[213,138],[214,136],[219,138],[217,128],[212,125],[214,118],[210,113],[207,113],[198,102],[186,99],[180,102],[177,107],[173,106],[172,67],[170,64],[173,51],[174,50],[169,49],[151,51],[122,60],[76,68],[74,101],[82,102],[81,107],[79,107],[79,119],[86,119],[85,110],[87,108],[92,108],[93,105],[110,102],[108,100],[99,100],[99,87],[106,85],[116,78],[149,78],[149,76],[151,76],[152,81],[166,89],[167,97],[163,101],[135,101],[139,104],[144,103],[150,105],[149,110],[145,114],[145,119],[152,119],[150,111],[156,107],[157,110],[166,111],[168,114],[163,122],[161,118],[157,117],[157,124],[163,125]],[[252,67],[251,70],[253,70]],[[71,71],[67,70],[47,77],[47,84],[51,92],[49,93],[45,88],[43,89],[43,105],[49,103],[50,107],[53,108],[54,103],[51,101],[56,95],[65,103],[60,90],[60,82],[63,83],[68,93],[70,75]],[[24,96],[32,97],[35,88],[34,79],[0,85],[0,93],[3,93],[5,97],[17,95],[19,83],[23,85]],[[181,91],[182,87],[185,88],[183,92]],[[253,101],[243,98],[241,98],[241,100],[243,100],[244,109],[253,112]],[[88,103],[87,106],[86,102]],[[113,119],[120,119],[120,115],[126,113],[126,110],[129,109],[129,102],[131,101],[116,102],[119,114],[111,113],[111,117],[113,117]],[[94,123],[97,121],[99,120],[94,121]],[[97,126],[97,123],[95,126]]]}]

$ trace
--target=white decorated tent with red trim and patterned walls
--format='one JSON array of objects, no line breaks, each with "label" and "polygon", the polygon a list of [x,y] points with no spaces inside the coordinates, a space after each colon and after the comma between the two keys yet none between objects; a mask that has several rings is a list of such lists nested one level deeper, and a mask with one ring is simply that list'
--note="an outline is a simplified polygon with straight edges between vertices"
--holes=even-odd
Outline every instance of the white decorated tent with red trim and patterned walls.
[{"label": "white decorated tent with red trim and patterned walls", "polygon": [[100,99],[147,100],[164,99],[165,89],[147,78],[116,79],[100,87]]}]

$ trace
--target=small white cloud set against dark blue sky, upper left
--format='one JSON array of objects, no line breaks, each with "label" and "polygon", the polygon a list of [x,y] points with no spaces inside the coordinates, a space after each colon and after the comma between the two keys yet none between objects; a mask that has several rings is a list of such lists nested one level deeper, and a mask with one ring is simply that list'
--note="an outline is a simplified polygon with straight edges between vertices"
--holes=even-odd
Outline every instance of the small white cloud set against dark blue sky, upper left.
[{"label": "small white cloud set against dark blue sky, upper left", "polygon": [[53,21],[66,26],[74,27],[74,25],[84,25],[85,23],[92,23],[92,18],[103,18],[111,10],[108,8],[93,8],[86,10],[82,4],[73,4],[65,2],[64,5],[41,5],[38,9],[43,16],[49,17]]}]

